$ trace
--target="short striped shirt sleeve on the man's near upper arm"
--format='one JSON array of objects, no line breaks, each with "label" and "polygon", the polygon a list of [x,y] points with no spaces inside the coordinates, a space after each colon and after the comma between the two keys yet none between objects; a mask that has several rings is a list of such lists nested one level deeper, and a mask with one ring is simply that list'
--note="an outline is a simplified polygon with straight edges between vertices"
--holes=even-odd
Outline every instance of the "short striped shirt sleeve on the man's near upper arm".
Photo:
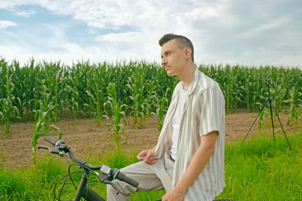
[{"label": "short striped shirt sleeve on the man's near upper arm", "polygon": [[201,92],[198,99],[199,111],[199,136],[206,135],[212,131],[222,128],[222,114],[224,110],[224,97],[215,87],[208,87]]}]

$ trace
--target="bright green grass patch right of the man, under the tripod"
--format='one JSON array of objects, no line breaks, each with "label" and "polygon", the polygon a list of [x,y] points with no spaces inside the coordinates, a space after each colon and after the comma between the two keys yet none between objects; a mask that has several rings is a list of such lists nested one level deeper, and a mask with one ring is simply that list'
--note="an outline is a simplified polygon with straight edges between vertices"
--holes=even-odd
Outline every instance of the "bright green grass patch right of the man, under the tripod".
[{"label": "bright green grass patch right of the man, under the tripod", "polygon": [[[300,132],[301,133],[301,132]],[[219,197],[235,200],[301,200],[302,136],[289,136],[289,150],[283,133],[253,136],[247,143],[227,144],[225,183]]]}]

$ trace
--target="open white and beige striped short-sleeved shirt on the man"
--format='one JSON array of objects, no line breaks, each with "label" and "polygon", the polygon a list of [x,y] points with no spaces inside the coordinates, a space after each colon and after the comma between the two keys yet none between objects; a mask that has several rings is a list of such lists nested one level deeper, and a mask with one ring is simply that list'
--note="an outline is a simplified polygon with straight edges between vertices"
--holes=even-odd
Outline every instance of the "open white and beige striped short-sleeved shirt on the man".
[{"label": "open white and beige striped short-sleeved shirt on the man", "polygon": [[[197,71],[197,72],[196,72]],[[172,118],[175,114],[180,81],[172,94],[163,128],[157,143],[155,158],[160,158],[172,147]],[[200,145],[200,136],[218,131],[215,151],[202,172],[186,191],[184,200],[209,200],[218,196],[225,186],[224,182],[224,137],[225,111],[224,96],[219,84],[196,68],[188,96],[183,106],[179,125],[177,153],[175,159],[172,188],[175,187]]]}]

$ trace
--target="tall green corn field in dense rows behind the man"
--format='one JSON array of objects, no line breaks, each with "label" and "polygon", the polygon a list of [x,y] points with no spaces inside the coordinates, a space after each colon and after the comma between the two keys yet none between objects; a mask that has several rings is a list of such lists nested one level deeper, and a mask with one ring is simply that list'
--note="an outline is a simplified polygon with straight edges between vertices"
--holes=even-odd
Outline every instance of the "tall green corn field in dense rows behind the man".
[{"label": "tall green corn field in dense rows behind the man", "polygon": [[[225,97],[225,110],[245,108],[259,111],[267,91],[267,78],[273,79],[271,96],[278,112],[288,114],[288,124],[298,124],[302,112],[302,70],[298,67],[196,65],[216,80]],[[98,125],[104,116],[112,116],[108,101],[109,83],[115,83],[119,104],[125,104],[126,116],[143,128],[150,115],[160,116],[168,109],[174,87],[180,80],[169,77],[158,63],[120,61],[90,64],[78,61],[72,66],[60,62],[36,62],[21,66],[0,58],[0,123],[3,134],[10,122],[33,121],[35,111],[49,111],[47,120],[56,123],[61,117],[94,118]],[[162,115],[157,115],[162,114]],[[161,128],[158,128],[159,130]]]}]

